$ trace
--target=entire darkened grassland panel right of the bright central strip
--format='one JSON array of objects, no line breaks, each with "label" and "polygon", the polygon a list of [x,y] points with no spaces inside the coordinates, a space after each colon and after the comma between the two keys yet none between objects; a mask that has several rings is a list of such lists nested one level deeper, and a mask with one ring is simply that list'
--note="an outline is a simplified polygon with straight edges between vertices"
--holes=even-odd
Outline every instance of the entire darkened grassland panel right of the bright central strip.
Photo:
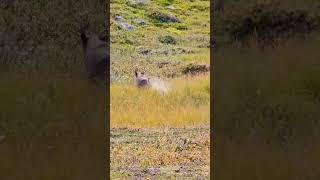
[{"label": "entire darkened grassland panel right of the bright central strip", "polygon": [[294,2],[230,0],[220,11],[213,85],[218,179],[319,177],[319,3]]}]

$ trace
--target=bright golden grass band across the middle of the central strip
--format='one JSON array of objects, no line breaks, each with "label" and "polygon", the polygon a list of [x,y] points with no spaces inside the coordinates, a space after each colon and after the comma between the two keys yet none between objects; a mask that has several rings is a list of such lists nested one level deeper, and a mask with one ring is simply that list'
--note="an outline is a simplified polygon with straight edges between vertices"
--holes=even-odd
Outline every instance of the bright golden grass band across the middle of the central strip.
[{"label": "bright golden grass band across the middle of the central strip", "polygon": [[133,85],[111,86],[111,127],[162,128],[209,124],[209,75],[169,80],[161,94]]}]

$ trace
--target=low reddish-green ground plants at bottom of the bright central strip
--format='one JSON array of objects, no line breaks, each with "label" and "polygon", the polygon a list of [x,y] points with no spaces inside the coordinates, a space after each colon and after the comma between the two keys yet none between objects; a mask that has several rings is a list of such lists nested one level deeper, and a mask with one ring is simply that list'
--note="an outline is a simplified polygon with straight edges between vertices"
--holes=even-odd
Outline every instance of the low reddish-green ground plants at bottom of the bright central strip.
[{"label": "low reddish-green ground plants at bottom of the bright central strip", "polygon": [[209,179],[208,128],[112,129],[112,179]]}]

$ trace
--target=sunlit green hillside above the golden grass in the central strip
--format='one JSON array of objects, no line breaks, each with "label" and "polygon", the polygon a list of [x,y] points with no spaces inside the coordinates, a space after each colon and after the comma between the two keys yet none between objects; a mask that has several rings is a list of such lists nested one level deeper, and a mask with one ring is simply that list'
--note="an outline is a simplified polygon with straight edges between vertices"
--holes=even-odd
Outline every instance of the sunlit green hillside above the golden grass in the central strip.
[{"label": "sunlit green hillside above the golden grass in the central strip", "polygon": [[[134,3],[130,2],[142,3],[132,5]],[[169,9],[170,6],[173,9]],[[209,6],[209,1],[202,0],[112,0],[112,82],[132,82],[136,67],[150,75],[176,77],[183,75],[188,62],[209,64]],[[161,22],[159,17],[165,15],[174,16],[181,22]],[[120,29],[114,19],[116,16],[122,16],[123,22],[134,30]],[[135,23],[137,19],[145,24]]]}]

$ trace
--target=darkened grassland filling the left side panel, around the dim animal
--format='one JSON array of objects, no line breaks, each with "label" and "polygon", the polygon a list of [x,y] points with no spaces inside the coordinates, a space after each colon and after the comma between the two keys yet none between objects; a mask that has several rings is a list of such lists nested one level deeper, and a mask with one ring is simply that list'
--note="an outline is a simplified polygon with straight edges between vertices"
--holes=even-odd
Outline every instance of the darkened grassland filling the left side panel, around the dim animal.
[{"label": "darkened grassland filling the left side panel, around the dim animal", "polygon": [[1,179],[105,177],[105,88],[87,79],[79,32],[105,31],[104,3],[1,1]]}]

